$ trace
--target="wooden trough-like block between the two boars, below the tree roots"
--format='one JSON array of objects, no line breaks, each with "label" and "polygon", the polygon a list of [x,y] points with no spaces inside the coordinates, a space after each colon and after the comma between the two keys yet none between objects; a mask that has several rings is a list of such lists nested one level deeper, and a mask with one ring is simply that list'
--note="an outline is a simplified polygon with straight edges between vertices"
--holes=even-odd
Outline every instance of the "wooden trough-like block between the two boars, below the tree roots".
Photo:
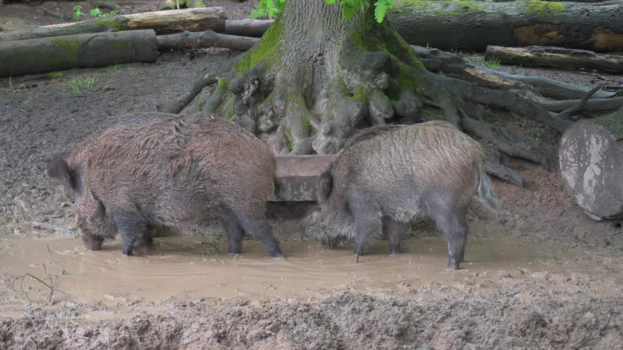
[{"label": "wooden trough-like block between the two boars, below the tree roots", "polygon": [[270,194],[271,202],[316,201],[318,180],[332,156],[277,156],[277,181],[280,199]]}]

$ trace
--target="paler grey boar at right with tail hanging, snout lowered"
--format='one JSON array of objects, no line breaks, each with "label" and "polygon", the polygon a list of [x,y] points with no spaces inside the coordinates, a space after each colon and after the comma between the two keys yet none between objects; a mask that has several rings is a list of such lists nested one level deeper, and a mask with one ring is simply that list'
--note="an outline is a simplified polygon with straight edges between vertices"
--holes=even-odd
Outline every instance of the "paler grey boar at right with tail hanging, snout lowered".
[{"label": "paler grey boar at right with tail hanging, snout lowered", "polygon": [[359,258],[385,226],[391,254],[402,223],[428,214],[448,242],[448,269],[463,260],[472,199],[497,212],[477,141],[445,121],[366,128],[333,157],[318,184],[325,248],[355,239]]}]

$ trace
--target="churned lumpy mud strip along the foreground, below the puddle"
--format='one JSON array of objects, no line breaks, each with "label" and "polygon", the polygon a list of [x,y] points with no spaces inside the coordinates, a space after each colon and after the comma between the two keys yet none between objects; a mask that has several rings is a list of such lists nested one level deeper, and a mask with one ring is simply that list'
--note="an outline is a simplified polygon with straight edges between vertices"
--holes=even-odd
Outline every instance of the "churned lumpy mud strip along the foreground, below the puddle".
[{"label": "churned lumpy mud strip along the foreground, below the puddle", "polygon": [[409,298],[346,292],[317,303],[197,299],[162,315],[101,323],[36,310],[2,321],[0,339],[4,349],[109,350],[615,349],[623,342],[620,298],[526,303],[421,292]]}]

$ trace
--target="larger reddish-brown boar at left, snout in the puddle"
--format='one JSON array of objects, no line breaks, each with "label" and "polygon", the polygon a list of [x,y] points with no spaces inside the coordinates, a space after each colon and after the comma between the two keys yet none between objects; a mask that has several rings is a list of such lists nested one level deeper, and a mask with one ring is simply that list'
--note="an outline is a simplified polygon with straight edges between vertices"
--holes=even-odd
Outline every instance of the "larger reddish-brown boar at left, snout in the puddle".
[{"label": "larger reddish-brown boar at left, snout in the puddle", "polygon": [[276,168],[270,149],[235,123],[168,113],[122,117],[78,144],[67,161],[57,154],[47,165],[91,250],[120,234],[123,255],[132,255],[135,243],[151,247],[152,227],[219,215],[229,253],[240,253],[247,232],[280,258],[265,219]]}]

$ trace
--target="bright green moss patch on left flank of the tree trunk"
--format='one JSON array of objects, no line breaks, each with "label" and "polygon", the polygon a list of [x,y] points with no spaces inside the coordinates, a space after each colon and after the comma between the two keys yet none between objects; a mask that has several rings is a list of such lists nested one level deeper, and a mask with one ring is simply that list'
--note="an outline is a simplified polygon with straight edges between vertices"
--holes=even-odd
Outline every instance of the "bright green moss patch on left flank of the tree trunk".
[{"label": "bright green moss patch on left flank of the tree trunk", "polygon": [[273,22],[269,30],[262,35],[260,42],[253,49],[247,51],[244,57],[234,65],[235,72],[247,72],[247,70],[252,69],[262,61],[267,64],[266,69],[270,69],[270,67],[277,64],[277,49],[280,44],[282,31],[283,25],[279,21],[279,17],[277,17],[277,20]]}]

